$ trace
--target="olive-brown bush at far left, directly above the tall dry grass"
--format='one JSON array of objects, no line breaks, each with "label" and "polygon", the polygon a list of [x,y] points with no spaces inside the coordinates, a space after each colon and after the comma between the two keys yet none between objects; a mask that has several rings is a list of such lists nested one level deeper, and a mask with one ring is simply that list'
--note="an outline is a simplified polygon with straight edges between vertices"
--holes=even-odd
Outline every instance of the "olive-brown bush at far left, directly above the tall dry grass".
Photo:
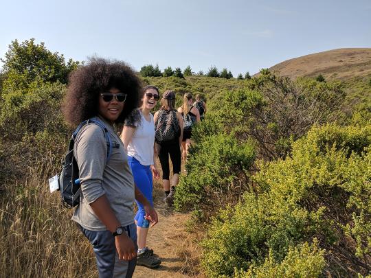
[{"label": "olive-brown bush at far left, directly above the tall dry grass", "polygon": [[71,133],[60,113],[64,92],[65,85],[57,82],[2,95],[0,132],[11,149],[8,163],[13,165],[13,174],[19,176],[36,164],[45,170],[48,160],[58,167]]}]

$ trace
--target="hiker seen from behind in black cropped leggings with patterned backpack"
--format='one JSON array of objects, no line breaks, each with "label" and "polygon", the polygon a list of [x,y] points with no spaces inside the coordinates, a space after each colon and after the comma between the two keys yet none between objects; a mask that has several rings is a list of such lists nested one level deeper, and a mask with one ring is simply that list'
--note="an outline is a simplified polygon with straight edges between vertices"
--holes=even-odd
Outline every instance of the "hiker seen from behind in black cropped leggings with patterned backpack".
[{"label": "hiker seen from behind in black cropped leggings with patterned backpack", "polygon": [[[165,91],[161,108],[155,113],[155,140],[159,146],[159,161],[162,168],[162,185],[166,194],[164,201],[171,206],[175,187],[181,172],[181,140],[183,138],[183,118],[175,110],[175,92]],[[170,183],[169,156],[172,163]],[[171,187],[170,187],[171,185]]]}]

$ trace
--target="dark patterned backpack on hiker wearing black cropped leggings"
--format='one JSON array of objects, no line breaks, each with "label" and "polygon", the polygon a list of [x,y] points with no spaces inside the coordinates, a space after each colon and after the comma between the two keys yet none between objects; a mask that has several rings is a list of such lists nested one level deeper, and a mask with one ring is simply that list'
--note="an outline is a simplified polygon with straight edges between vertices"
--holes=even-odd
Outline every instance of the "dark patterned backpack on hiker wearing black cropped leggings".
[{"label": "dark patterned backpack on hiker wearing black cropped leggings", "polygon": [[161,109],[155,122],[155,140],[157,143],[173,141],[180,135],[177,111]]}]

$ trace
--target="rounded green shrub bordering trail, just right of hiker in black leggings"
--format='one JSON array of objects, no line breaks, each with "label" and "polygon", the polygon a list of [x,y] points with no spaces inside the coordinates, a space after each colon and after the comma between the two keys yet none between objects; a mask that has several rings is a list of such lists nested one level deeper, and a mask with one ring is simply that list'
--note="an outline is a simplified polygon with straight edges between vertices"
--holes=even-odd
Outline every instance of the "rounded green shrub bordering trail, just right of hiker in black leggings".
[{"label": "rounded green shrub bordering trail, just right of hiker in black leggings", "polygon": [[254,147],[226,134],[205,137],[190,150],[187,176],[181,176],[175,194],[177,209],[210,213],[227,199],[238,200],[248,187]]}]

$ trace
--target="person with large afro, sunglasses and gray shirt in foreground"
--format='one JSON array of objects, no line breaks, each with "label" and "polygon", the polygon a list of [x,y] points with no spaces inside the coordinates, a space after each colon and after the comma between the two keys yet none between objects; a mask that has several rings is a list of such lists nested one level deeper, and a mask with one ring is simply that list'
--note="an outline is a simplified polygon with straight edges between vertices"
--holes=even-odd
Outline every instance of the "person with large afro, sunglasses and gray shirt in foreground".
[{"label": "person with large afro, sunglasses and gray shirt in foreground", "polygon": [[[134,199],[144,204],[146,218],[157,223],[155,209],[135,187],[115,130],[137,107],[140,89],[135,71],[124,62],[93,58],[71,73],[63,103],[69,124],[95,119],[104,126],[85,124],[74,145],[82,194],[72,220],[93,245],[99,277],[133,275],[137,256]],[[110,159],[105,133],[111,139]]]}]

